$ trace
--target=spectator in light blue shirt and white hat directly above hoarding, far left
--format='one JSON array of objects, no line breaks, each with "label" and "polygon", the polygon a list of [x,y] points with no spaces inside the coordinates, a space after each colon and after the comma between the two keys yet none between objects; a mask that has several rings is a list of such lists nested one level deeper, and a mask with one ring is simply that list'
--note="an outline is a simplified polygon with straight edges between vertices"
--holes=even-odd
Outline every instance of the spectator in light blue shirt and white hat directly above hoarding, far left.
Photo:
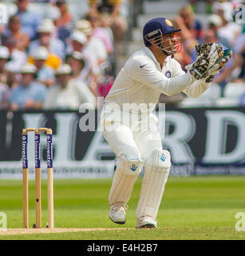
[{"label": "spectator in light blue shirt and white hat directly above hoarding, far left", "polygon": [[34,81],[36,67],[26,63],[22,66],[22,79],[18,86],[12,89],[10,96],[11,110],[41,109],[47,89]]}]

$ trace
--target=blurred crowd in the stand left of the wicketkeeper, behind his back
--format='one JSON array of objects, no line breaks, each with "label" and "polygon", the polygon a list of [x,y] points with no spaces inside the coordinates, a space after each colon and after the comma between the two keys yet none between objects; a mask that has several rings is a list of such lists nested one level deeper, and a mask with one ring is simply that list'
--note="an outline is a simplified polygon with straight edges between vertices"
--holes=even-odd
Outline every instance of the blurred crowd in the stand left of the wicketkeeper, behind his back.
[{"label": "blurred crowd in the stand left of the wicketkeeper, behind his back", "polygon": [[81,17],[65,0],[34,1],[48,2],[42,15],[30,0],[13,1],[0,24],[0,109],[96,108],[108,94],[127,29],[123,0],[85,1]]}]

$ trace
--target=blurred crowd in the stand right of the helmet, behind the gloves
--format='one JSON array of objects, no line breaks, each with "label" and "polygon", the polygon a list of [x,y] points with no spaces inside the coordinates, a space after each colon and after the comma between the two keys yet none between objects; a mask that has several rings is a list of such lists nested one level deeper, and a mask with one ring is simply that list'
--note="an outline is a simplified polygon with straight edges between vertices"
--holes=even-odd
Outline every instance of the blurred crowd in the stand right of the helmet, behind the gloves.
[{"label": "blurred crowd in the stand right of the helmet, behind the gloves", "polygon": [[[239,88],[241,97],[235,105],[245,105],[245,1],[206,1],[205,20],[195,12],[198,2],[190,0],[189,4],[180,8],[176,18],[172,20],[174,25],[181,29],[178,36],[182,38],[183,43],[180,54],[175,55],[175,58],[185,70],[185,66],[196,59],[196,44],[216,42],[223,46],[223,49],[231,49],[233,58],[216,75],[212,86],[219,89],[220,97],[226,96],[227,91],[231,91],[232,94],[232,88],[234,90]],[[243,8],[238,8],[239,6]],[[231,85],[232,87],[229,88]],[[172,98],[163,96],[161,100],[176,103],[183,101],[184,97],[184,94],[178,94]],[[234,103],[227,100],[228,105],[229,102],[231,105]]]}]

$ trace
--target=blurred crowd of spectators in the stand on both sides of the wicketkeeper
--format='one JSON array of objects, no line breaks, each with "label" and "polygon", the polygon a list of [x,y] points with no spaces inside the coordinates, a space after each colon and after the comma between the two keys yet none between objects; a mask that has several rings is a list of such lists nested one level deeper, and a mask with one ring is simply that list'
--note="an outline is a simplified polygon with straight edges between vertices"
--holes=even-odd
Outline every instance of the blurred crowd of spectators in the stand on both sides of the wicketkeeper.
[{"label": "blurred crowd of spectators in the stand on both sides of the wicketkeeper", "polygon": [[[97,97],[108,94],[116,75],[118,46],[128,32],[122,10],[133,1],[83,1],[88,11],[77,16],[65,0],[34,0],[40,5],[48,2],[43,14],[30,8],[30,0],[13,0],[7,23],[0,24],[0,109],[78,110],[82,103],[96,108]],[[172,23],[182,29],[176,36],[182,38],[183,47],[175,58],[185,70],[196,59],[196,44],[217,42],[231,48],[233,58],[211,87],[219,89],[221,98],[236,92],[238,105],[244,106],[245,1],[207,0],[205,19],[196,13],[201,1],[189,0],[176,10]],[[162,94],[160,102],[176,104],[184,98]]]}]

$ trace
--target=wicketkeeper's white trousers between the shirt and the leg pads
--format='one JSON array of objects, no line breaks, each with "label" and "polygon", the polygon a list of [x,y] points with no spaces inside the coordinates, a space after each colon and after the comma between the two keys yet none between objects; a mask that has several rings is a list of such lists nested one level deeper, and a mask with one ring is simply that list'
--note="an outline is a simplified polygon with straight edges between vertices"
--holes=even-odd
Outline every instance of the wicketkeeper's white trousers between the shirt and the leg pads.
[{"label": "wicketkeeper's white trousers between the shirt and the leg pads", "polygon": [[152,150],[162,150],[158,120],[153,114],[132,124],[114,122],[110,117],[103,121],[105,139],[120,160],[144,161]]}]

